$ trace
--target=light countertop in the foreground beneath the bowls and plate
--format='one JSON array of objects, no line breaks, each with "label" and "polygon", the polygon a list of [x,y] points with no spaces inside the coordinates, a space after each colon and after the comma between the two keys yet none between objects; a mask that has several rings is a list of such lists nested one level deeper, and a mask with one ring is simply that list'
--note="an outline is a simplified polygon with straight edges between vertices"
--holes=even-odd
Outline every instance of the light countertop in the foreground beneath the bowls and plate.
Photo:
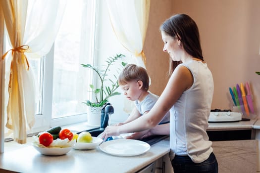
[{"label": "light countertop in the foreground beneath the bowls and plate", "polygon": [[169,138],[139,156],[119,157],[94,150],[72,149],[66,155],[41,155],[33,146],[0,154],[0,172],[19,173],[135,173],[169,153]]}]

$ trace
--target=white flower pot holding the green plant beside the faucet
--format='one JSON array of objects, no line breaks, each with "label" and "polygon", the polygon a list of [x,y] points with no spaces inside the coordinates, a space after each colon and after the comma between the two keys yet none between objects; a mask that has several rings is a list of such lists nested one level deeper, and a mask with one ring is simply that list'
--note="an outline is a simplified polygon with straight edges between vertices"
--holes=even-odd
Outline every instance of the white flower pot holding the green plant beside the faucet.
[{"label": "white flower pot holding the green plant beside the faucet", "polygon": [[87,109],[88,125],[90,125],[90,126],[100,126],[102,108],[103,107],[88,106],[88,109]]}]

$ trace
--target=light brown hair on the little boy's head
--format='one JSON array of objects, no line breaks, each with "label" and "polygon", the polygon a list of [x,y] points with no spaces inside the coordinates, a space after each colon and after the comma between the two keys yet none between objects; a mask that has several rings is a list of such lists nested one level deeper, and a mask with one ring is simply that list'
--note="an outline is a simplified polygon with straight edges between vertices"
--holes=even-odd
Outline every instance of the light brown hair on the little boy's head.
[{"label": "light brown hair on the little boy's head", "polygon": [[145,68],[139,67],[135,64],[126,65],[118,77],[118,84],[123,86],[131,81],[142,81],[142,89],[148,91],[149,76]]}]

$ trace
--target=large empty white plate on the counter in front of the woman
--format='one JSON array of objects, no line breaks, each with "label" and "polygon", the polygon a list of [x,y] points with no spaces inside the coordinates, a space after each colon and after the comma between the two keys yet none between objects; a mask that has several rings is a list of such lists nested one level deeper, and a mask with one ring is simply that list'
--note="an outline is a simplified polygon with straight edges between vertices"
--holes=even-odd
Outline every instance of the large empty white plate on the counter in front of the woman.
[{"label": "large empty white plate on the counter in front of the woman", "polygon": [[151,148],[148,143],[134,139],[109,140],[99,147],[103,152],[114,156],[137,156]]}]

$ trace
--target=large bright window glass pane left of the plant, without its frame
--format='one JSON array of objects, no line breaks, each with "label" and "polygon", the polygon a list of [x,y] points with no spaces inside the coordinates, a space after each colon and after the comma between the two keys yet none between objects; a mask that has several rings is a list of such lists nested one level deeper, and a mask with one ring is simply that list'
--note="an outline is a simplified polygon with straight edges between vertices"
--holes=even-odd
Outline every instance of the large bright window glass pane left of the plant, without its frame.
[{"label": "large bright window glass pane left of the plant, without its frame", "polygon": [[[68,1],[54,43],[52,119],[84,114],[90,75],[80,64],[92,62],[94,1]],[[73,15],[71,15],[73,14]],[[76,19],[76,20],[75,20]]]}]

